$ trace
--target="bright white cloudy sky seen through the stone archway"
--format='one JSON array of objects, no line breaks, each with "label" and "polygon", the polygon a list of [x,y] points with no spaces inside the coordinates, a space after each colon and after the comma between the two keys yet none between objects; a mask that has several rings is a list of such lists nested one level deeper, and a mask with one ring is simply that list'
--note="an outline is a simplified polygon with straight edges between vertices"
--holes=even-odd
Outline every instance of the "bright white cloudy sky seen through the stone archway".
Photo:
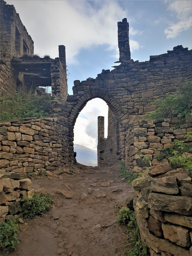
[{"label": "bright white cloudy sky seen through the stone archway", "polygon": [[[84,117],[82,117],[84,116]],[[105,117],[105,138],[108,128],[108,106],[104,100],[90,100],[77,117],[74,143],[97,150],[97,117]]]}]

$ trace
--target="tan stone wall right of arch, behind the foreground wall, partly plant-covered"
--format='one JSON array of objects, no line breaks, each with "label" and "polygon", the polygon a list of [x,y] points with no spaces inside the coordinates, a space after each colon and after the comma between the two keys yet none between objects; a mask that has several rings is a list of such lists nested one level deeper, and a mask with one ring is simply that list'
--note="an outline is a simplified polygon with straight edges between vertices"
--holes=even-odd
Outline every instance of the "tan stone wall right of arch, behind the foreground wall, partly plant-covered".
[{"label": "tan stone wall right of arch, behind the foreground wall, partly plant-covered", "polygon": [[[148,168],[148,162],[144,162],[141,155],[151,160],[150,166],[158,165],[156,156],[162,148],[172,147],[173,141],[186,141],[185,134],[192,131],[192,116],[186,116],[186,124],[176,129],[179,118],[167,118],[157,120],[143,120],[137,116],[132,123],[128,123],[126,134],[125,165],[129,172],[143,172]],[[142,153],[138,154],[138,147],[142,147]],[[168,160],[164,159],[164,163]]]}]

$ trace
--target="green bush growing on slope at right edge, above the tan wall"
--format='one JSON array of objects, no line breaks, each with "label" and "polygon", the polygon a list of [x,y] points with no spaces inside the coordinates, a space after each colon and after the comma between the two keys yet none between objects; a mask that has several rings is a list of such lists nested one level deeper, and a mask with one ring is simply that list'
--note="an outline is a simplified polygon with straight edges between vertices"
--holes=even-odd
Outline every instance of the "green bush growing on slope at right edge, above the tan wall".
[{"label": "green bush growing on slope at right edge, above the tan wall", "polygon": [[175,94],[166,94],[164,99],[157,99],[150,104],[157,105],[155,112],[146,114],[148,119],[179,117],[184,121],[185,115],[190,114],[192,103],[192,81],[179,84]]}]

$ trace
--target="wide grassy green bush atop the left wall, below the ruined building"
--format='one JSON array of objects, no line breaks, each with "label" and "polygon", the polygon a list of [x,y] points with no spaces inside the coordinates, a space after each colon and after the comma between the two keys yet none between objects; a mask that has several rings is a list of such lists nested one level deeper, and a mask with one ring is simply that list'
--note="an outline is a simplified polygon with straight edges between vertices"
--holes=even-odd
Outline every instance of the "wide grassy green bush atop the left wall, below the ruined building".
[{"label": "wide grassy green bush atop the left wall, below the ruined building", "polygon": [[24,117],[46,117],[50,100],[32,94],[32,91],[19,90],[13,95],[0,97],[0,121]]}]

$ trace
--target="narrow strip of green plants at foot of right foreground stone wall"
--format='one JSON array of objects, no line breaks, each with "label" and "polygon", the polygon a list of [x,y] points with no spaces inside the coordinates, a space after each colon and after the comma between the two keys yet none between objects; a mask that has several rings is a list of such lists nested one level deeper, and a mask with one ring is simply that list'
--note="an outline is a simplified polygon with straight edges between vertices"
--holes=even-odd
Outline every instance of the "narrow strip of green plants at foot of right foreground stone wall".
[{"label": "narrow strip of green plants at foot of right foreground stone wall", "polygon": [[127,208],[119,211],[119,218],[117,220],[119,225],[127,224],[126,242],[131,246],[131,250],[127,252],[127,256],[149,256],[148,246],[142,242],[139,227],[137,226],[135,213]]}]

